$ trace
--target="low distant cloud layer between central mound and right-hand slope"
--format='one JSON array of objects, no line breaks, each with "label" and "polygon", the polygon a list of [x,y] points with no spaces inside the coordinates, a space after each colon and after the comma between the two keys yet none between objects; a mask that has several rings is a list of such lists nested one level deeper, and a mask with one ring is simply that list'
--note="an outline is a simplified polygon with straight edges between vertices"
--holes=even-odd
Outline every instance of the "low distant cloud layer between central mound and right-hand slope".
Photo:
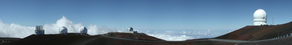
[{"label": "low distant cloud layer between central mound and right-hand slope", "polygon": [[[233,31],[233,30],[231,30]],[[231,31],[226,30],[139,30],[149,36],[153,36],[166,41],[184,41],[200,38],[214,38]]]}]

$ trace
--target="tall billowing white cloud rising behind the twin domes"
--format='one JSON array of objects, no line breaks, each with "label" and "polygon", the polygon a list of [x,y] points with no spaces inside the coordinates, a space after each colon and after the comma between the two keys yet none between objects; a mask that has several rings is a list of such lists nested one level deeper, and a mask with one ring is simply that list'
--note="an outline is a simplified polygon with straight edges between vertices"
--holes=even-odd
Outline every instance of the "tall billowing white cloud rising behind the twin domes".
[{"label": "tall billowing white cloud rising behind the twin domes", "polygon": [[[83,27],[81,23],[74,24],[72,21],[68,20],[65,16],[61,19],[57,20],[56,23],[53,24],[45,24],[44,30],[45,34],[56,34],[59,33],[59,28],[66,27],[68,32],[79,32],[79,28]],[[97,35],[97,34],[104,34],[108,32],[115,32],[116,29],[110,29],[107,27],[102,27],[101,29],[97,28],[96,25],[89,25],[86,26],[88,30],[88,34],[90,35]]]}]

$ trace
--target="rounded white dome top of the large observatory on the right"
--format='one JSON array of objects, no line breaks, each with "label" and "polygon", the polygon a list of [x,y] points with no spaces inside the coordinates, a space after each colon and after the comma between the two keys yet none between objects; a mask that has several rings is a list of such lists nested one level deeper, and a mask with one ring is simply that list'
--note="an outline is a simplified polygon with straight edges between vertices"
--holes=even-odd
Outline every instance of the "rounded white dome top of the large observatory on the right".
[{"label": "rounded white dome top of the large observatory on the right", "polygon": [[256,12],[254,13],[254,19],[256,18],[266,19],[267,14],[263,9],[257,9]]}]

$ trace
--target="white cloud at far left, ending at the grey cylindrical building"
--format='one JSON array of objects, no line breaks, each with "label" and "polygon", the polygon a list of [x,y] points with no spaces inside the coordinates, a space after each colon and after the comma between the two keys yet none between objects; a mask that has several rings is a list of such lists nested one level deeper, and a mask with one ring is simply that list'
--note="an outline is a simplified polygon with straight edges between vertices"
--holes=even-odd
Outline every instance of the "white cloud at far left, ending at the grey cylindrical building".
[{"label": "white cloud at far left, ending at the grey cylindrical building", "polygon": [[35,27],[25,27],[18,24],[4,24],[0,19],[0,37],[24,38],[35,33]]}]

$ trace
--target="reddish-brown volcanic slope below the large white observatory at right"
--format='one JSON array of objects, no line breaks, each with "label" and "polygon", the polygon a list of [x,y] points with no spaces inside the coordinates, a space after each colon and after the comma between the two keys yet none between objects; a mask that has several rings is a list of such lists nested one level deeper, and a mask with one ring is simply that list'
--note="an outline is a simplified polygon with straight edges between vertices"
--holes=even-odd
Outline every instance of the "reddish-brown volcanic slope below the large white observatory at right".
[{"label": "reddish-brown volcanic slope below the large white observatory at right", "polygon": [[275,26],[246,26],[215,39],[255,41],[270,39],[292,33],[292,22]]}]

